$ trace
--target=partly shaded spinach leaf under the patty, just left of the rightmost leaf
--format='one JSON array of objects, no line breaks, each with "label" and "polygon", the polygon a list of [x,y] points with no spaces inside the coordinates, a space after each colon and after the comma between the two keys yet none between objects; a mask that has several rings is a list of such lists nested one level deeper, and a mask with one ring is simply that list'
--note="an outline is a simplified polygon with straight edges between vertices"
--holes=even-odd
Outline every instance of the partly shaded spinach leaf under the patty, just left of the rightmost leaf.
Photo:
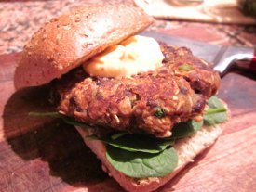
[{"label": "partly shaded spinach leaf under the patty, just left of the rightmost leaf", "polygon": [[189,120],[188,122],[180,122],[172,128],[172,135],[170,138],[179,139],[186,136],[191,136],[200,130],[203,126],[202,122],[195,122],[194,120]]}]

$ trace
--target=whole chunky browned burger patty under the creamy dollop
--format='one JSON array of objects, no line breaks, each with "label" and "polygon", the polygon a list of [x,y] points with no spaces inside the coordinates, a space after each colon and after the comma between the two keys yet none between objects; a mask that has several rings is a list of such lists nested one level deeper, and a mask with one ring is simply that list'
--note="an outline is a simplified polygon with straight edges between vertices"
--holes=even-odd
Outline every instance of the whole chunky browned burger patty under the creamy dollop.
[{"label": "whole chunky browned burger patty under the creamy dollop", "polygon": [[73,70],[57,82],[58,109],[93,126],[169,136],[176,123],[202,115],[220,77],[187,48],[161,48],[163,67],[131,78],[88,77],[81,68]]}]

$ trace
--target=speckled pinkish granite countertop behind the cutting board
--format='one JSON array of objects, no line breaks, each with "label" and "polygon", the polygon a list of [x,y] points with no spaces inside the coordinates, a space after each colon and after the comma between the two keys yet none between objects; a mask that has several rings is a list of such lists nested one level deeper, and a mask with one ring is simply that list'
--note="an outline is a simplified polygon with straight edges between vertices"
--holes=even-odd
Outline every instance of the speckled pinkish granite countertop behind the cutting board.
[{"label": "speckled pinkish granite countertop behind the cutting board", "polygon": [[[33,33],[47,20],[60,15],[71,7],[87,6],[92,3],[133,5],[133,0],[0,1],[0,54],[21,51],[23,45],[31,38]],[[225,25],[199,21],[157,19],[150,29],[211,44],[250,47],[256,45],[255,25]]]}]

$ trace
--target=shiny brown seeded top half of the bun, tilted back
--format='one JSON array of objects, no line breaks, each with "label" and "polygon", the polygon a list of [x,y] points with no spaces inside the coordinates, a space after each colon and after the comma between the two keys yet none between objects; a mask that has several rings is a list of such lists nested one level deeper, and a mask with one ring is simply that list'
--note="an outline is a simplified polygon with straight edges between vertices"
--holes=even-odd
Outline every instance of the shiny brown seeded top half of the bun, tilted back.
[{"label": "shiny brown seeded top half of the bun, tilted back", "polygon": [[24,46],[15,87],[60,78],[106,47],[141,32],[152,21],[141,9],[125,5],[79,7],[51,19]]}]

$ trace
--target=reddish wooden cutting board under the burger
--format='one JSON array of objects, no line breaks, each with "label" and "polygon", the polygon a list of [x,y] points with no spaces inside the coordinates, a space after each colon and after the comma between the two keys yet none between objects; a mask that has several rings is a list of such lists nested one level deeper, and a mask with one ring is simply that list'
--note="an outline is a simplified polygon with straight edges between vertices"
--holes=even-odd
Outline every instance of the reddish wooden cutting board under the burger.
[{"label": "reddish wooden cutting board under the burger", "polygon": [[[122,191],[74,127],[28,117],[50,109],[45,89],[15,92],[19,54],[0,56],[0,191]],[[158,191],[256,191],[256,81],[229,73],[219,96],[232,119],[213,147]]]}]

